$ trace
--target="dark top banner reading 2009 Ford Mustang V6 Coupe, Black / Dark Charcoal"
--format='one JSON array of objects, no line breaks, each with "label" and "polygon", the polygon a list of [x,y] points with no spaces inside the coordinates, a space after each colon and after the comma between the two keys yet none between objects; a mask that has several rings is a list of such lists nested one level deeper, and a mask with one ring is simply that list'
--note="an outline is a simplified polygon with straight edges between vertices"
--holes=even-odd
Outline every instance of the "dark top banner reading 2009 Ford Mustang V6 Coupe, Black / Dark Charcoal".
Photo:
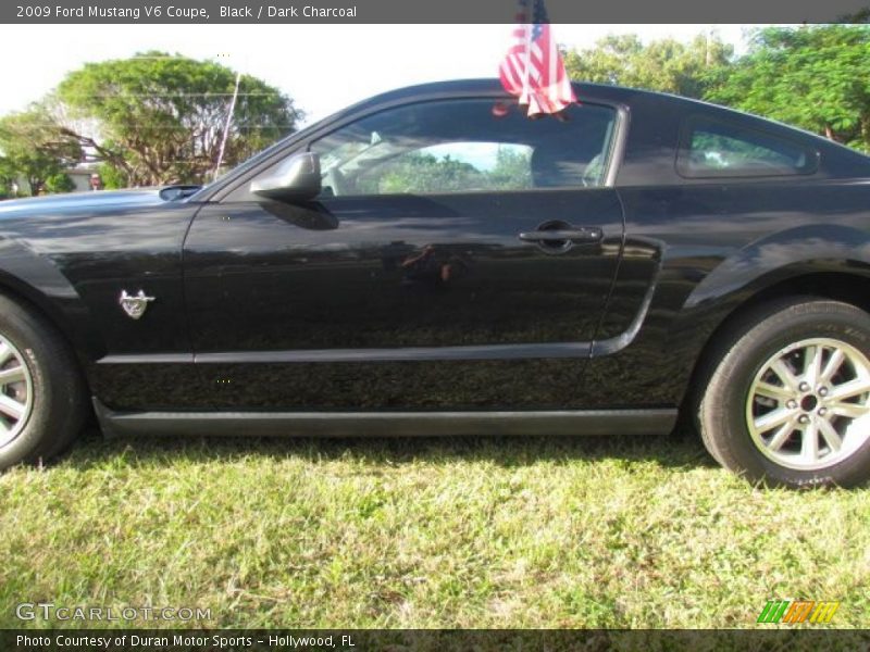
[{"label": "dark top banner reading 2009 Ford Mustang V6 Coupe, Black / Dark Charcoal", "polygon": [[[547,0],[552,23],[866,22],[870,0]],[[514,0],[12,0],[3,23],[512,23]],[[449,37],[447,37],[449,38]]]}]

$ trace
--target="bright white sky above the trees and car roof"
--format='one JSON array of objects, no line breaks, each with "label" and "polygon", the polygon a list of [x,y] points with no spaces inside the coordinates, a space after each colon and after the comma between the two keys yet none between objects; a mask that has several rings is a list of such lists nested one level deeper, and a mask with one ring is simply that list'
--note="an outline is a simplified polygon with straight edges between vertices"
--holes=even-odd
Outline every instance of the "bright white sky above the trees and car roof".
[{"label": "bright white sky above the trees and car roof", "polygon": [[[701,33],[745,50],[747,25],[556,24],[556,40],[588,47],[608,34],[644,41]],[[163,50],[222,62],[294,98],[304,123],[381,91],[496,77],[510,25],[0,25],[0,115],[39,100],[87,62]]]}]

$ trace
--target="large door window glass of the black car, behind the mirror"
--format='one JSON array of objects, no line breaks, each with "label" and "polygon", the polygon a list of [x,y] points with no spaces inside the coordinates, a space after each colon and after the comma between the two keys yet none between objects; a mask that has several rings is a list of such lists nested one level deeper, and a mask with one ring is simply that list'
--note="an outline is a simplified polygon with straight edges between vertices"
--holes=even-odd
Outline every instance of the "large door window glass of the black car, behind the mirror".
[{"label": "large door window glass of the black car, behind the mirror", "polygon": [[616,111],[530,120],[515,104],[446,100],[390,109],[314,141],[322,197],[596,187]]}]

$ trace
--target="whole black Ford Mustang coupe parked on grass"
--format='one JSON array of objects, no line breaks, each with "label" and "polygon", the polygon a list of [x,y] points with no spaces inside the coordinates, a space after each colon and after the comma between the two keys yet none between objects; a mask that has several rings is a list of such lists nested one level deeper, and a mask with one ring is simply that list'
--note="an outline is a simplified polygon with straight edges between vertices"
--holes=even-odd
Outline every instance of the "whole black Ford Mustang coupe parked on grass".
[{"label": "whole black Ford Mustang coupe parked on grass", "polygon": [[595,85],[359,103],[201,188],[0,203],[0,467],[116,434],[662,434],[870,477],[870,158]]}]

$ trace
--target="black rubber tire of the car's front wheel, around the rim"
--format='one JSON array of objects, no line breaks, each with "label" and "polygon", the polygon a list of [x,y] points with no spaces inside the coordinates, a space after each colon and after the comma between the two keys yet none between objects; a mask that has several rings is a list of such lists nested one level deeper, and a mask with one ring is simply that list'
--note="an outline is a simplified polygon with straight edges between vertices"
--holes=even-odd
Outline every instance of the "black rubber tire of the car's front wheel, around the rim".
[{"label": "black rubber tire of the car's front wheel, around the rim", "polygon": [[[82,429],[87,394],[78,363],[63,337],[36,312],[2,294],[0,338],[21,355],[16,360],[29,375],[32,405],[20,419],[17,435],[0,446],[2,471],[22,462],[48,461],[65,450]],[[4,418],[9,426],[9,417]]]}]

